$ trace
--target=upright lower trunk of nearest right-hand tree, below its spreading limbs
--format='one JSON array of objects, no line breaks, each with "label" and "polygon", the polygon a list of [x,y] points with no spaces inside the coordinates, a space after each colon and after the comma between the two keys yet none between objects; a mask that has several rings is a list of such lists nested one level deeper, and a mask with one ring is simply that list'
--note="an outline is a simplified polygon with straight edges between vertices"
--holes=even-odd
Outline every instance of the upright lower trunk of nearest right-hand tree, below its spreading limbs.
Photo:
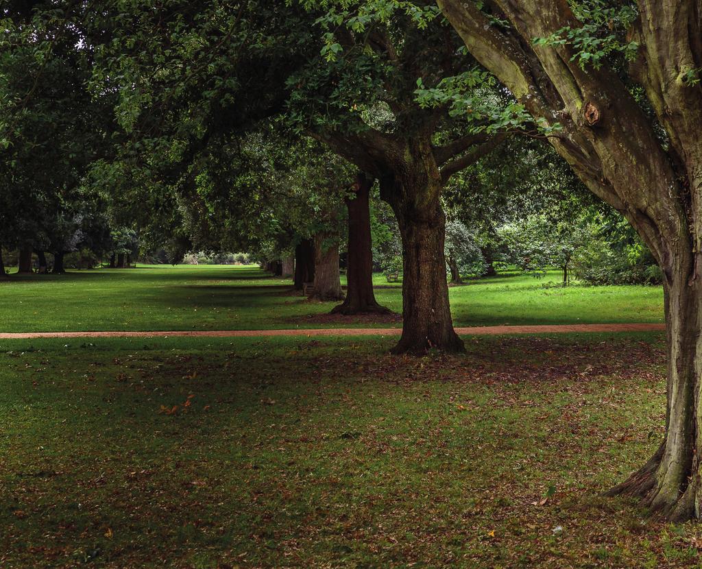
[{"label": "upright lower trunk of nearest right-hand tree, below its spreading limbs", "polygon": [[[687,255],[688,274],[693,255]],[[674,520],[700,516],[702,401],[702,283],[665,283],[668,333],[668,404],[665,439],[647,464],[609,494],[640,496],[647,507]]]}]

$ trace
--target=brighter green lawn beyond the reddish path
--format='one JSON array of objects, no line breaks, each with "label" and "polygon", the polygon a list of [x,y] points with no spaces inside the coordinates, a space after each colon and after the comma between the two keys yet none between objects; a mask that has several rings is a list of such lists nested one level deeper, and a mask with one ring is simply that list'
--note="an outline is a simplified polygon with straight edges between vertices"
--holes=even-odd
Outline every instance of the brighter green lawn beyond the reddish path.
[{"label": "brighter green lawn beyond the reddish path", "polygon": [[[647,286],[558,286],[504,274],[450,289],[456,326],[663,321],[663,293]],[[402,312],[402,283],[376,275],[378,302]],[[216,330],[401,326],[326,317],[289,281],[257,267],[185,265],[12,276],[0,282],[0,331]]]}]

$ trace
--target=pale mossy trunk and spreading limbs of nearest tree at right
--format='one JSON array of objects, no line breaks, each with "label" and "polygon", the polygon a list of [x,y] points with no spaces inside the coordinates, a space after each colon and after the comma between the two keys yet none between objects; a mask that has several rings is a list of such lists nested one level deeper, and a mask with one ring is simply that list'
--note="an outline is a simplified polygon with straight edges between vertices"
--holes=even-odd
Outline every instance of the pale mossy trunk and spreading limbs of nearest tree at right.
[{"label": "pale mossy trunk and spreading limbs of nearest tree at right", "polygon": [[490,25],[475,3],[437,1],[472,55],[533,116],[562,125],[550,138],[553,147],[592,192],[627,217],[656,257],[665,275],[668,328],[665,438],[611,494],[641,497],[671,519],[699,518],[702,88],[684,81],[702,62],[698,1],[637,3],[632,39],[640,49],[630,79],[643,86],[656,121],[634,100],[621,71],[607,64],[583,70],[567,44],[533,46],[534,37],[578,26],[566,1],[495,0],[510,32]]}]

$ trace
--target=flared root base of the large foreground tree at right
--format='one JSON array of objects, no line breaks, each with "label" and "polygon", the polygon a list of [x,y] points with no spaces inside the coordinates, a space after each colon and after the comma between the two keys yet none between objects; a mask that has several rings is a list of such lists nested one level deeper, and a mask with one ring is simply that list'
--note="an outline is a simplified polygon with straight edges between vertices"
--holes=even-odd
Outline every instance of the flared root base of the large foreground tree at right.
[{"label": "flared root base of the large foreground tree at right", "polygon": [[668,521],[683,522],[700,518],[702,485],[699,475],[689,478],[687,487],[677,488],[665,484],[663,457],[665,443],[634,474],[621,484],[604,493],[605,496],[630,496],[640,500],[641,505],[653,516]]}]

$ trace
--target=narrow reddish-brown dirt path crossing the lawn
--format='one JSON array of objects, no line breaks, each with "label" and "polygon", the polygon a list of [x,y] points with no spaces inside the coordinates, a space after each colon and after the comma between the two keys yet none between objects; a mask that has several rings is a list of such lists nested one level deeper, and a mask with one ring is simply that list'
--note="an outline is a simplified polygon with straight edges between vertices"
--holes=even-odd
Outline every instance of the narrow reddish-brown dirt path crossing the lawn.
[{"label": "narrow reddish-brown dirt path crossing the lawn", "polygon": [[[542,326],[475,326],[456,328],[462,335],[562,334],[573,332],[654,332],[665,324],[557,324]],[[296,328],[294,330],[164,330],[155,332],[17,332],[0,333],[0,340],[72,337],[257,337],[257,336],[389,336],[399,335],[401,328]]]}]

